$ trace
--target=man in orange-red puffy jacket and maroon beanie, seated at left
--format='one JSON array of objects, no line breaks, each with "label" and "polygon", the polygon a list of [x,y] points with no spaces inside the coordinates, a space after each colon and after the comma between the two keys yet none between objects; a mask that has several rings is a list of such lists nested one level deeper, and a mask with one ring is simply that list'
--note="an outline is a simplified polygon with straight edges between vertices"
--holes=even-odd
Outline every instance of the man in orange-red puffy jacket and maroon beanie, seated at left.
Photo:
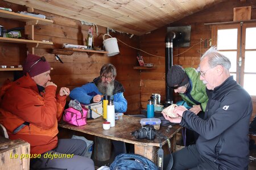
[{"label": "man in orange-red puffy jacket and maroon beanie, seated at left", "polygon": [[93,161],[83,156],[84,141],[57,138],[57,121],[69,89],[61,87],[56,94],[57,86],[51,82],[50,72],[46,58],[28,54],[24,76],[1,87],[0,122],[10,139],[27,141],[30,154],[40,155],[40,159],[31,159],[31,169],[94,169]]}]

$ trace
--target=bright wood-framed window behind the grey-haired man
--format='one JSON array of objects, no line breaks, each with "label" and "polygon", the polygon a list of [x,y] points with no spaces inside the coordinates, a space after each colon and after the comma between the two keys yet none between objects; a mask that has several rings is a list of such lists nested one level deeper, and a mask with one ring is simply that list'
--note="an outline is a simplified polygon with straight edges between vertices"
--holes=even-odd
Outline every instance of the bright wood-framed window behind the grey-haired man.
[{"label": "bright wood-framed window behind the grey-haired man", "polygon": [[213,25],[212,42],[231,61],[230,74],[256,99],[256,23]]}]

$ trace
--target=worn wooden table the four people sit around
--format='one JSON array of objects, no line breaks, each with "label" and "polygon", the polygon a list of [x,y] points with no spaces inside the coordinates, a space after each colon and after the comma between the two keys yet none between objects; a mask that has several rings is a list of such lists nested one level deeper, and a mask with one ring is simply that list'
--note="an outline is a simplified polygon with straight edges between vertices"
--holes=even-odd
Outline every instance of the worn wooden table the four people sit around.
[{"label": "worn wooden table the four people sit around", "polygon": [[[126,143],[134,144],[135,154],[145,156],[146,158],[156,161],[156,147],[159,147],[159,138],[156,137],[154,141],[148,139],[136,139],[131,135],[131,132],[141,128],[140,124],[141,118],[133,116],[123,116],[122,120],[116,120],[115,126],[109,130],[104,130],[102,128],[102,123],[105,121],[102,117],[98,117],[94,120],[87,120],[87,125],[84,126],[74,126],[67,124],[65,122],[60,122],[59,127],[65,129],[71,129],[75,131],[80,131],[85,134],[94,135],[97,137],[112,139],[115,141],[123,141]],[[172,151],[176,148],[176,134],[180,131],[182,127],[180,125],[174,125],[169,132],[166,131],[167,126],[161,126],[158,130],[161,134],[172,139]],[[166,144],[167,141],[162,139],[162,145]]]}]

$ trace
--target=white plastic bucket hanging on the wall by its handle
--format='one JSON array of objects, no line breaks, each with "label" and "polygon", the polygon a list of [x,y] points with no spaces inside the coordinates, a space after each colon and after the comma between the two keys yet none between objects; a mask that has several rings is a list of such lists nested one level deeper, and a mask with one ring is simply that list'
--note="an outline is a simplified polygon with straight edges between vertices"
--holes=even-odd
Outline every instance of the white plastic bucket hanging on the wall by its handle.
[{"label": "white plastic bucket hanging on the wall by its handle", "polygon": [[[105,40],[105,36],[108,35],[111,38]],[[103,45],[105,46],[105,50],[108,52],[107,56],[114,56],[119,54],[117,39],[113,38],[108,33],[103,36]]]}]

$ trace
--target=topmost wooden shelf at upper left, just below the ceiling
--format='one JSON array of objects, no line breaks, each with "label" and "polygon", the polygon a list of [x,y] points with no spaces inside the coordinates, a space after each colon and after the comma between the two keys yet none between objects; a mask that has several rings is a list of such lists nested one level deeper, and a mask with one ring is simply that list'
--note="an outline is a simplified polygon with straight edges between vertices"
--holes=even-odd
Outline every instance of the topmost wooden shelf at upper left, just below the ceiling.
[{"label": "topmost wooden shelf at upper left, just below the ceiling", "polygon": [[26,22],[26,23],[31,23],[31,24],[47,25],[47,24],[52,24],[53,23],[53,20],[37,18],[37,17],[34,17],[34,16],[18,14],[18,13],[15,13],[15,12],[10,12],[10,11],[5,11],[5,10],[0,10],[0,17],[1,18],[14,19],[14,20],[20,20],[20,21],[23,21],[23,22]]}]

